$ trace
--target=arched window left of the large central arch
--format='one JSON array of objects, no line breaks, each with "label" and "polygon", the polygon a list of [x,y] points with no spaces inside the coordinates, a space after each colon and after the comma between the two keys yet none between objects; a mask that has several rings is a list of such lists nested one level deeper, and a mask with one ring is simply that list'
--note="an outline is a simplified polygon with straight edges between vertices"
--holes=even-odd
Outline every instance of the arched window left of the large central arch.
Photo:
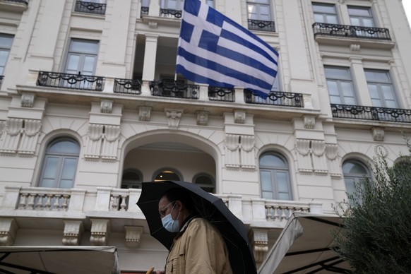
[{"label": "arched window left of the large central arch", "polygon": [[39,186],[72,188],[79,154],[80,145],[73,138],[54,139],[46,148]]}]

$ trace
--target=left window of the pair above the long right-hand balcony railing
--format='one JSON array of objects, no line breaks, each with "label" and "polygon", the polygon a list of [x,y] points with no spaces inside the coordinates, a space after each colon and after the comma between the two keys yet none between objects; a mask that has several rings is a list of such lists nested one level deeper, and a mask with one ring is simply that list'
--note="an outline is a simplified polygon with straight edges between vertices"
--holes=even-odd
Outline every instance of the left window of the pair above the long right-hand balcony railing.
[{"label": "left window of the pair above the long right-hand balcony railing", "polygon": [[325,71],[331,104],[357,105],[350,68],[326,66]]}]

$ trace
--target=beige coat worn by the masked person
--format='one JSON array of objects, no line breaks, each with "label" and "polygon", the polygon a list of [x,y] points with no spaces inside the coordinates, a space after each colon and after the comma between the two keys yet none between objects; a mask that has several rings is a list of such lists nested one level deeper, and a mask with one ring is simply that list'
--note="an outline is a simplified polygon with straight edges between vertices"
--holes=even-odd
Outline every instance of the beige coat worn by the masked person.
[{"label": "beige coat worn by the masked person", "polygon": [[166,274],[232,274],[220,232],[203,218],[189,220],[174,239]]}]

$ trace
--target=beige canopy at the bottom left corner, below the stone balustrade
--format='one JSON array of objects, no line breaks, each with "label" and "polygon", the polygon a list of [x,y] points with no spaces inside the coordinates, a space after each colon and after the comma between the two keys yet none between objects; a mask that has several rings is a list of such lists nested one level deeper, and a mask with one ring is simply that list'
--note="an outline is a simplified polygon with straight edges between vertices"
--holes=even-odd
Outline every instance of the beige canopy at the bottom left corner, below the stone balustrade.
[{"label": "beige canopy at the bottom left corner, below the stone balustrade", "polygon": [[1,246],[0,273],[120,273],[113,246]]}]

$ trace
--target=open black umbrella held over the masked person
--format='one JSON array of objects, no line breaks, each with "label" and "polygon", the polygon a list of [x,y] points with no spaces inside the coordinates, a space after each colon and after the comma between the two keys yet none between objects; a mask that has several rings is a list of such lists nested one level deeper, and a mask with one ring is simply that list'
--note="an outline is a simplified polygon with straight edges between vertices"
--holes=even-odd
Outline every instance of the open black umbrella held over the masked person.
[{"label": "open black umbrella held over the masked person", "polygon": [[143,182],[141,196],[137,205],[145,215],[150,228],[150,234],[167,249],[172,244],[175,233],[168,232],[162,226],[158,214],[158,201],[169,189],[181,188],[191,192],[191,198],[198,213],[220,230],[229,252],[230,264],[235,274],[254,274],[256,263],[249,245],[244,223],[235,217],[221,198],[203,191],[196,184],[185,181],[152,181]]}]

